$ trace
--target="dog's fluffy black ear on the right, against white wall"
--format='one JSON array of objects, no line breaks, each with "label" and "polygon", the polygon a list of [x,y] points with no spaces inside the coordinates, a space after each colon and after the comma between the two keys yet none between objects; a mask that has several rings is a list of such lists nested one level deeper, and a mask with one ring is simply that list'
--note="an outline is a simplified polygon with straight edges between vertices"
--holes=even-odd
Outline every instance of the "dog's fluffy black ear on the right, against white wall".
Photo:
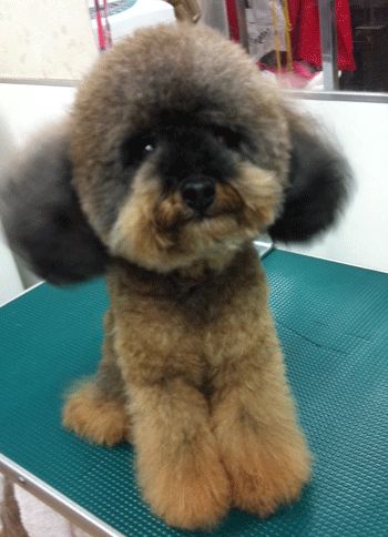
[{"label": "dog's fluffy black ear on the right, against white wall", "polygon": [[283,211],[268,230],[275,241],[307,241],[334,224],[348,197],[351,172],[328,135],[287,111],[292,153]]}]

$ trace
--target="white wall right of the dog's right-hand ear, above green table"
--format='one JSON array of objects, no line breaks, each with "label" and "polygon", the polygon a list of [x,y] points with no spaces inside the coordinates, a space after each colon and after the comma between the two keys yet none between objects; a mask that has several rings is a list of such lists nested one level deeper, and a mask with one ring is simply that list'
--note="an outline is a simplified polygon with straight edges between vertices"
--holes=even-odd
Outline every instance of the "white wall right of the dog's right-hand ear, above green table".
[{"label": "white wall right of the dog's right-hand ear, above green table", "polygon": [[336,134],[356,189],[336,230],[295,252],[388,272],[388,104],[304,101]]}]

